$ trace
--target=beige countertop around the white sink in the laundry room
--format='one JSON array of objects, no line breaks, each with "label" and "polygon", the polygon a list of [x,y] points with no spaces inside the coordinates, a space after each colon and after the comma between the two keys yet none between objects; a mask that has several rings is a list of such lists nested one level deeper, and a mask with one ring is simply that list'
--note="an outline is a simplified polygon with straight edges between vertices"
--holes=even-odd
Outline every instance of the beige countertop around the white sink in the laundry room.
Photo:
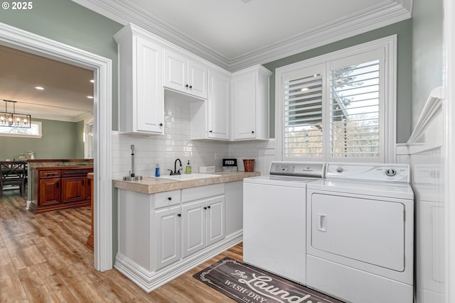
[{"label": "beige countertop around the white sink in the laundry room", "polygon": [[164,179],[161,177],[144,177],[142,180],[137,181],[114,180],[114,187],[130,190],[132,192],[139,192],[141,194],[155,194],[157,192],[168,192],[175,189],[240,181],[261,174],[260,172],[210,172],[210,175],[220,175],[220,177],[207,177],[184,181]]}]

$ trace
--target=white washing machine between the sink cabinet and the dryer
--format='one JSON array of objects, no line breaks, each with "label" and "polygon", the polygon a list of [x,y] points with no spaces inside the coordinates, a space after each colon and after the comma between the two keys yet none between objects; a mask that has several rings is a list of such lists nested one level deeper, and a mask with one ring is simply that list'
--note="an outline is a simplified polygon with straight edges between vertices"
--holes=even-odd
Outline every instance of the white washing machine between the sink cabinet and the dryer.
[{"label": "white washing machine between the sink cabinet and the dryer", "polygon": [[269,174],[243,180],[243,261],[305,284],[306,184],[323,163],[273,161]]}]

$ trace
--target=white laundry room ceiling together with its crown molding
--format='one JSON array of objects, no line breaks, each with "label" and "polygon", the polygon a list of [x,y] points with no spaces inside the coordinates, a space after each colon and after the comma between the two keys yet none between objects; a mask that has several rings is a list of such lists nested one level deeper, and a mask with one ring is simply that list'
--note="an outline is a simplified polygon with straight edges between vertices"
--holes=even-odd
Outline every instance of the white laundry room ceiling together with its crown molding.
[{"label": "white laundry room ceiling together with its crown molding", "polygon": [[73,0],[235,71],[411,18],[412,0]]}]

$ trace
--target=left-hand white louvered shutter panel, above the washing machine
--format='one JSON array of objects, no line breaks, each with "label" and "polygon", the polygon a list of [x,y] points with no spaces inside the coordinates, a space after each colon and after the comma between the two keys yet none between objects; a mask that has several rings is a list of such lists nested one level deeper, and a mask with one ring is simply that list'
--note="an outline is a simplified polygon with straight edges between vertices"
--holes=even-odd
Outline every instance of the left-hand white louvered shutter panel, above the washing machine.
[{"label": "left-hand white louvered shutter panel, above the washing machine", "polygon": [[284,77],[284,158],[323,157],[323,67]]}]

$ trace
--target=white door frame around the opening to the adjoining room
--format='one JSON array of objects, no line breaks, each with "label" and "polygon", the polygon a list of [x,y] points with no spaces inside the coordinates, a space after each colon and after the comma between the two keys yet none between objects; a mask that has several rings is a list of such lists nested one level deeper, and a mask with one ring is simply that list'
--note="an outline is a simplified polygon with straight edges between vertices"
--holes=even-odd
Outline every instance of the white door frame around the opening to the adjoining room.
[{"label": "white door frame around the opening to the adjoining room", "polygon": [[0,45],[94,72],[94,265],[112,268],[112,60],[0,23]]}]

